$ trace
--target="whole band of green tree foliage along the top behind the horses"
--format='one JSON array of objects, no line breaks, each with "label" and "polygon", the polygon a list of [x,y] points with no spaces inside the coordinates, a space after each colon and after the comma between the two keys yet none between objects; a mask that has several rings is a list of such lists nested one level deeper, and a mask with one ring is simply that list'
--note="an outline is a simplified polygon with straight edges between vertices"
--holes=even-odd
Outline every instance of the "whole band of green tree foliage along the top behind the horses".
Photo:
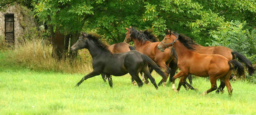
[{"label": "whole band of green tree foliage along the top behind the horses", "polygon": [[48,25],[59,27],[62,33],[95,32],[113,44],[124,40],[124,27],[152,28],[160,40],[165,30],[170,29],[188,35],[200,45],[224,45],[248,57],[255,55],[255,0],[38,0],[36,3],[36,16]]}]

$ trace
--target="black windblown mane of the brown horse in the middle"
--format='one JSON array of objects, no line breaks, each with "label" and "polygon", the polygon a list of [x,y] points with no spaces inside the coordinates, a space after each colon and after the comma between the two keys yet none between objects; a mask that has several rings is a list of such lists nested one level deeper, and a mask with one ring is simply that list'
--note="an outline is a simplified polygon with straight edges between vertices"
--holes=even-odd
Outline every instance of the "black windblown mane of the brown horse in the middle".
[{"label": "black windblown mane of the brown horse in the middle", "polygon": [[146,29],[146,30],[140,32],[137,29],[135,29],[134,27],[132,27],[130,30],[132,33],[131,34],[132,37],[136,38],[138,41],[142,41],[143,44],[146,41],[150,41],[150,42],[158,42],[159,41],[157,39],[156,35],[153,34],[153,30]]}]

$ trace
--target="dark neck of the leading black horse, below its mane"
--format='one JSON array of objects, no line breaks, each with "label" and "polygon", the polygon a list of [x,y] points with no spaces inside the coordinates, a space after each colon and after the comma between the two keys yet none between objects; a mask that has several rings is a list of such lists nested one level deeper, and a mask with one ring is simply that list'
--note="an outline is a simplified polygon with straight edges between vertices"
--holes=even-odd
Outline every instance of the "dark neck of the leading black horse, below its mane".
[{"label": "dark neck of the leading black horse, below its mane", "polygon": [[92,56],[92,58],[95,58],[98,56],[105,57],[106,55],[112,54],[110,52],[102,50],[100,47],[96,46],[94,43],[90,43],[87,49],[90,52],[90,55]]}]

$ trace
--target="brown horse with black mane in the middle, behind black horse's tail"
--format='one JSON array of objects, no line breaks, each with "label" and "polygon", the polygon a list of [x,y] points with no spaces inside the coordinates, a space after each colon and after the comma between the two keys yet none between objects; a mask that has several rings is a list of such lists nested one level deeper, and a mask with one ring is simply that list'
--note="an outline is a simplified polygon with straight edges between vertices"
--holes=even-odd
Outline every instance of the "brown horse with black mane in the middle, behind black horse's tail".
[{"label": "brown horse with black mane in the middle, behind black horse's tail", "polygon": [[[129,43],[130,41],[134,41],[136,51],[139,51],[147,55],[152,60],[154,60],[156,64],[158,64],[158,66],[160,66],[165,70],[166,77],[162,78],[158,86],[160,86],[162,83],[163,83],[163,86],[166,86],[166,80],[171,70],[168,66],[169,66],[169,63],[174,58],[174,56],[171,55],[171,49],[166,49],[165,52],[159,51],[157,49],[157,45],[160,42],[157,42],[158,39],[156,38],[155,35],[151,34],[152,31],[150,30],[139,32],[132,27],[129,27],[129,29],[125,27],[125,29],[127,30],[127,32],[126,32],[126,38],[124,39],[124,43]],[[151,36],[148,36],[145,33],[148,33],[148,35],[151,35]],[[151,37],[151,39],[149,39],[149,37]]]}]

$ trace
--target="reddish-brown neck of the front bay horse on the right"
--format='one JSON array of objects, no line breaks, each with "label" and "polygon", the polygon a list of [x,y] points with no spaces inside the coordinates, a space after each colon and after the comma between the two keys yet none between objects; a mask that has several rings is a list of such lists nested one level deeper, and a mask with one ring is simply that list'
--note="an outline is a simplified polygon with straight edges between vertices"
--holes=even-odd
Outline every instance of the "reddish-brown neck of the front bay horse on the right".
[{"label": "reddish-brown neck of the front bay horse on the right", "polygon": [[177,53],[177,56],[178,56],[178,60],[180,60],[179,58],[184,58],[184,57],[187,57],[189,56],[189,54],[193,51],[189,50],[188,48],[186,48],[183,43],[181,43],[179,40],[177,40],[175,43],[174,43],[174,48],[175,48],[175,51]]}]

